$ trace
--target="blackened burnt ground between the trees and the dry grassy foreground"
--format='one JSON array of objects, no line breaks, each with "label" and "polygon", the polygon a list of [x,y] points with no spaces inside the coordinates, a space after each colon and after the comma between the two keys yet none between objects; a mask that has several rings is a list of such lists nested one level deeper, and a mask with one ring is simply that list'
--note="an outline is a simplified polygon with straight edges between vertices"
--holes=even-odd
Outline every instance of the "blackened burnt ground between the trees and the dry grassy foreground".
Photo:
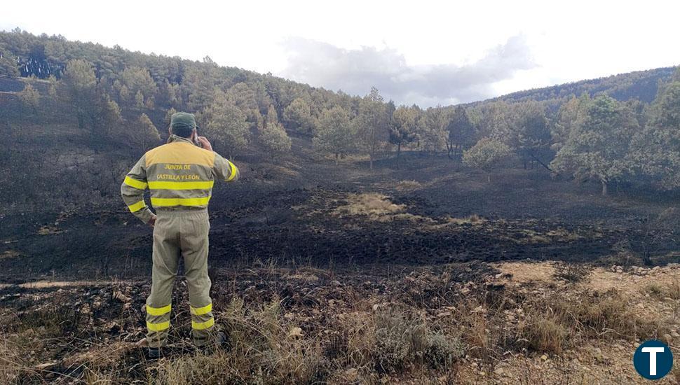
[{"label": "blackened burnt ground between the trees and the dry grassy foreground", "polygon": [[[597,186],[550,181],[536,170],[504,169],[487,185],[447,159],[414,155],[401,169],[375,172],[362,166],[271,165],[250,175],[244,167],[244,180],[218,186],[211,200],[212,264],[610,263],[625,255],[639,265],[646,231],[641,219],[675,206],[672,197],[636,197],[634,191],[601,197]],[[400,209],[379,216],[339,210],[358,194],[381,195]],[[146,276],[151,230],[122,206],[6,212],[0,218],[1,279]],[[657,263],[677,257],[672,232],[648,246]]]}]

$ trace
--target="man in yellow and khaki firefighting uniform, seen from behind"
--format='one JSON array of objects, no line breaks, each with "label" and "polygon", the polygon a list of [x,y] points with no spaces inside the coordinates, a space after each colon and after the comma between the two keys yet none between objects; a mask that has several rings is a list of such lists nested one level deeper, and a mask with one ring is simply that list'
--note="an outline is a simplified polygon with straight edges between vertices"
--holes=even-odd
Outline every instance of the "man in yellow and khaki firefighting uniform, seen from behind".
[{"label": "man in yellow and khaki firefighting uniform, seen from behind", "polygon": [[[215,330],[212,316],[208,201],[215,179],[236,181],[238,168],[213,152],[208,139],[197,136],[193,114],[173,114],[169,132],[168,144],[145,153],[121,186],[128,209],[154,228],[154,267],[147,299],[149,358],[161,356],[168,339],[172,286],[180,254],[189,286],[194,344],[210,349],[213,342],[222,344],[226,339],[224,332]],[[196,141],[202,148],[194,144]],[[158,217],[144,203],[147,187]]]}]

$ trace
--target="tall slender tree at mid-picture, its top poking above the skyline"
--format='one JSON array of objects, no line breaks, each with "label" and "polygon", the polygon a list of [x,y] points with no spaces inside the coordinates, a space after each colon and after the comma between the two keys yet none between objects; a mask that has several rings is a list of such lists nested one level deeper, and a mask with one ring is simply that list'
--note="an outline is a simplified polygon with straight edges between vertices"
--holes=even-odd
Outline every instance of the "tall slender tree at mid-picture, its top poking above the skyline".
[{"label": "tall slender tree at mid-picture, its top poking above the skyline", "polygon": [[359,115],[355,119],[357,131],[361,138],[360,146],[367,151],[370,168],[379,148],[388,138],[388,116],[383,97],[376,87],[359,102]]}]

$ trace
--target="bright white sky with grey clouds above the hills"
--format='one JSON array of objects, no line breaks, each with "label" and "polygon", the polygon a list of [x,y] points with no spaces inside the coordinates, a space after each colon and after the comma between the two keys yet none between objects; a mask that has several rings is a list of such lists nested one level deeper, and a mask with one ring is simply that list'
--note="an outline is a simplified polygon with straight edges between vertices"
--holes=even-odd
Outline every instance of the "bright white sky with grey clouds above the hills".
[{"label": "bright white sky with grey clouds above the hills", "polygon": [[[458,104],[680,64],[680,1],[11,1],[0,29]],[[29,6],[28,6],[29,4]]]}]

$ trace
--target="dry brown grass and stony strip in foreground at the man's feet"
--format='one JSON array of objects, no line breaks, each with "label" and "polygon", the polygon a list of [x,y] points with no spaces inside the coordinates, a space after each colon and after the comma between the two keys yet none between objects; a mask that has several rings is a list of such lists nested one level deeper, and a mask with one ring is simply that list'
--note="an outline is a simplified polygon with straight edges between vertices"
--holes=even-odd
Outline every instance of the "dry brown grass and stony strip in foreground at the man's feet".
[{"label": "dry brown grass and stony strip in foreground at the man's feet", "polygon": [[[6,288],[0,376],[8,383],[445,384],[480,376],[522,383],[533,378],[524,367],[543,365],[552,382],[560,367],[623,365],[613,346],[624,353],[677,331],[677,319],[637,311],[644,283],[637,291],[603,290],[601,269],[592,270],[594,282],[578,283],[500,270],[466,263],[348,273],[263,263],[214,271],[216,315],[230,349],[210,356],[191,349],[180,291],[171,349],[157,362],[136,344],[148,286]],[[661,290],[668,291],[653,300],[667,303],[674,289]],[[616,375],[634,381],[632,368],[624,369]]]}]

